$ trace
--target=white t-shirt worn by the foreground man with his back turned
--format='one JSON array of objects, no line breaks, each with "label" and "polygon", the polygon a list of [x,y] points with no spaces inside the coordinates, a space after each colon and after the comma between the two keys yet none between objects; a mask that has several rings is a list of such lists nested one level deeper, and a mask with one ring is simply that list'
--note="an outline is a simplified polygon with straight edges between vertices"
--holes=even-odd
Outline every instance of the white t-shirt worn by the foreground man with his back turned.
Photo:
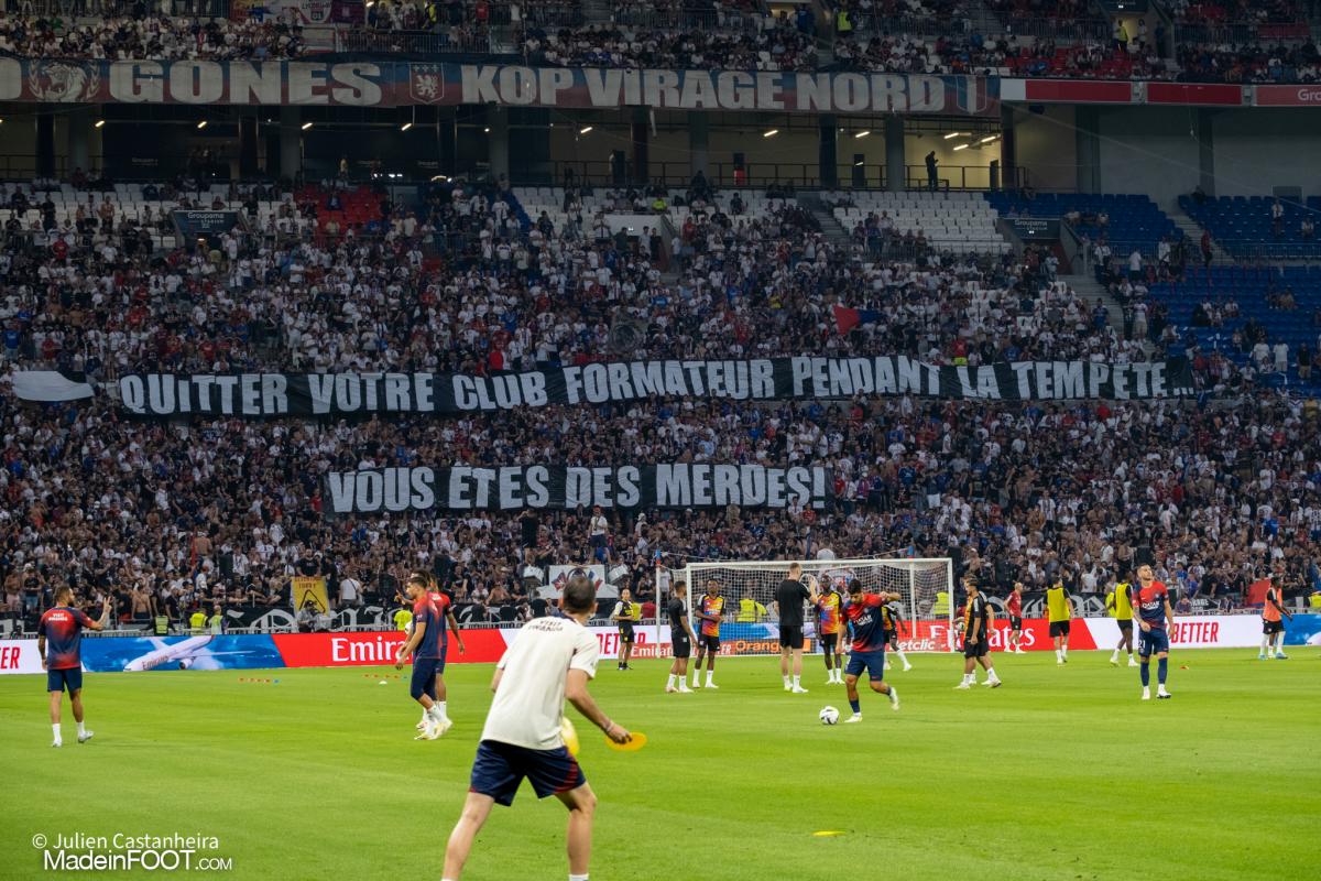
[{"label": "white t-shirt worn by the foreground man with his back turned", "polygon": [[526,749],[564,745],[564,680],[569,670],[596,678],[601,650],[592,631],[572,618],[536,618],[524,623],[498,664],[503,670],[486,713],[482,740]]}]

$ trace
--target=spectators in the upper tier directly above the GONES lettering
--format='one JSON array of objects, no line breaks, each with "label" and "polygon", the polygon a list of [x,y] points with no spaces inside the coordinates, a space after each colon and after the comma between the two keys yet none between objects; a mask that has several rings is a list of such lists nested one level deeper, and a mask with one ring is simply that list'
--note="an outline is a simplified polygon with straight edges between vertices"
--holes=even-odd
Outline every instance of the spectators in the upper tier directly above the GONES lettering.
[{"label": "spectators in the upper tier directly above the GONES lettering", "polygon": [[165,15],[75,21],[0,13],[0,54],[107,61],[262,61],[299,58],[303,53],[301,28],[283,21]]}]

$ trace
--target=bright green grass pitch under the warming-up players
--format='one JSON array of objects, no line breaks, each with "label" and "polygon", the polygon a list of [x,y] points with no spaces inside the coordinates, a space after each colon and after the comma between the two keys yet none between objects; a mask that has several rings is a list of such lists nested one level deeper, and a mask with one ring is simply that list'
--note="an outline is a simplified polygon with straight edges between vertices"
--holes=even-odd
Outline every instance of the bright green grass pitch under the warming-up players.
[{"label": "bright green grass pitch under the warming-up players", "polygon": [[[721,660],[720,691],[695,695],[662,693],[662,662],[602,663],[593,693],[651,742],[613,753],[579,726],[601,799],[592,877],[1310,876],[1321,652],[1182,651],[1174,700],[1151,703],[1104,652],[1063,668],[1048,652],[995,658],[1005,687],[968,693],[951,689],[960,659],[918,655],[890,680],[900,713],[864,693],[865,722],[834,728],[816,712],[847,701],[820,658],[802,696],[781,689],[774,659]],[[490,667],[449,668],[457,725],[435,742],[412,740],[407,682],[378,686],[382,672],[89,675],[96,738],[74,744],[66,708],[58,752],[44,683],[0,676],[0,878],[59,877],[32,847],[59,831],[217,836],[232,878],[439,878]],[[564,819],[524,786],[464,877],[567,877]]]}]

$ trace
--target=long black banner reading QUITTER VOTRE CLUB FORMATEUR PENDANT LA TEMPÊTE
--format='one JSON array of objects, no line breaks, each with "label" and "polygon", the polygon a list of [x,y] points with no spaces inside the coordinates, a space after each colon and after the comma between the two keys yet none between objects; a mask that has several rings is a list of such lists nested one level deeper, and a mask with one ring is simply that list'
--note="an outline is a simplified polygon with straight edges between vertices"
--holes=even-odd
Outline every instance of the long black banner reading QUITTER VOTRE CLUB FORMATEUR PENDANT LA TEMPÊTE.
[{"label": "long black banner reading QUITTER VOTRE CLUB FORMATEUR PENDANT LA TEMP\u00caTE", "polygon": [[1037,361],[937,366],[906,357],[634,361],[468,374],[129,374],[123,407],[137,416],[453,415],[647,398],[729,400],[917,395],[968,400],[1145,400],[1193,395],[1186,358],[1107,365]]}]

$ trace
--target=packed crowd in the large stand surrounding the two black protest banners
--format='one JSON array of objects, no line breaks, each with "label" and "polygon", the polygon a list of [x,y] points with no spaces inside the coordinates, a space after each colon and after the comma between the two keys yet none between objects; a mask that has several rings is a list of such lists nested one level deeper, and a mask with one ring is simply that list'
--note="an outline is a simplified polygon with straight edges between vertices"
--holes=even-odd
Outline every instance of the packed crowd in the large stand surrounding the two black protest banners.
[{"label": "packed crowd in the large stand surrounding the two black protest banners", "polygon": [[[1055,279],[1048,252],[954,259],[915,247],[914,230],[911,250],[886,256],[896,236],[882,215],[831,242],[787,190],[756,214],[709,185],[687,193],[687,219],[668,243],[675,277],[660,275],[650,240],[601,235],[594,223],[524,223],[498,186],[441,186],[411,206],[383,195],[374,235],[258,225],[194,252],[144,247],[140,219],[89,195],[71,231],[5,235],[11,365],[94,379],[156,369],[482,372],[617,357],[610,332],[621,321],[645,326],[630,357],[1123,362],[1160,357],[1169,337],[1116,333],[1104,306]],[[336,193],[238,195],[314,214]],[[3,199],[42,203],[40,188],[9,188]],[[456,239],[462,247],[437,247]],[[1141,283],[1115,281],[1129,285],[1120,293],[1131,302],[1141,302]],[[880,321],[840,334],[835,304]],[[1081,590],[1103,588],[1143,546],[1199,596],[1236,597],[1272,567],[1303,579],[1321,539],[1317,404],[1252,396],[1251,366],[1194,355],[1199,382],[1243,395],[1239,405],[653,400],[443,423],[184,425],[125,419],[104,394],[50,405],[4,394],[4,605],[22,617],[67,579],[185,609],[277,608],[291,575],[320,573],[351,608],[388,604],[404,568],[428,565],[468,621],[509,619],[536,610],[526,565],[594,557],[624,567],[620,580],[646,596],[655,552],[682,565],[822,546],[840,556],[908,546],[945,556],[956,546],[974,567],[992,561],[1030,586],[1063,575]],[[812,464],[835,476],[836,501],[815,516],[606,512],[604,542],[590,539],[587,511],[322,516],[328,470],[548,461]],[[346,579],[357,586],[345,598]],[[132,616],[141,601],[128,600]]]}]

